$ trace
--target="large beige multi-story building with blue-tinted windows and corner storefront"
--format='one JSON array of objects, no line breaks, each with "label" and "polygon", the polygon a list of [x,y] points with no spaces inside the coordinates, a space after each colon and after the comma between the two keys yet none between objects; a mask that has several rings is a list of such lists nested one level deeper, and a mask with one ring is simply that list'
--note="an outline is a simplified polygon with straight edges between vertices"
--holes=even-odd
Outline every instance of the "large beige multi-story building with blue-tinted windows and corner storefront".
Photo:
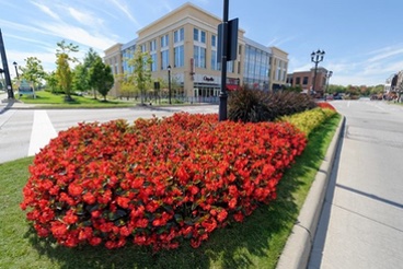
[{"label": "large beige multi-story building with blue-tinted windows and corner storefront", "polygon": [[[185,3],[138,31],[136,39],[106,49],[105,62],[113,67],[114,74],[129,73],[133,70],[127,61],[134,51],[148,51],[152,59],[150,69],[154,80],[160,78],[166,81],[168,69],[171,67],[171,78],[180,87],[175,93],[187,97],[218,96],[221,68],[217,27],[220,23],[221,19],[216,15]],[[286,83],[288,55],[285,51],[244,37],[241,28],[238,31],[237,49],[237,59],[227,63],[228,90],[247,84],[268,91],[275,84]],[[273,55],[276,57],[272,58]],[[275,63],[274,72],[270,62]],[[111,94],[119,96],[118,83],[115,83]]]}]

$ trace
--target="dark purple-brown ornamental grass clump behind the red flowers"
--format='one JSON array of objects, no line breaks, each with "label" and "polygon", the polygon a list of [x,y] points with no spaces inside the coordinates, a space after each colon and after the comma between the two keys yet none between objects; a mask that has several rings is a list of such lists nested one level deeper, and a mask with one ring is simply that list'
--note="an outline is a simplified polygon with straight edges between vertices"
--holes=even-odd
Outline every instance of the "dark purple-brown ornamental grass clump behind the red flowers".
[{"label": "dark purple-brown ornamental grass clump behind the red flowers", "polygon": [[243,87],[231,93],[228,118],[233,121],[272,121],[280,116],[292,115],[316,107],[306,94],[296,92],[263,92]]}]

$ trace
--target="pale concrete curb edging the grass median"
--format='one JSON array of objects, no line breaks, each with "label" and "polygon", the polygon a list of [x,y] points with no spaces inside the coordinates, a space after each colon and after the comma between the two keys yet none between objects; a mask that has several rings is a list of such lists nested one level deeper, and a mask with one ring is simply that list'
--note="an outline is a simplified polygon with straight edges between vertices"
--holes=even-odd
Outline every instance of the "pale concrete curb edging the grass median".
[{"label": "pale concrete curb edging the grass median", "polygon": [[304,269],[308,266],[314,235],[322,212],[322,206],[327,189],[327,183],[332,173],[334,159],[345,125],[343,116],[326,155],[316,173],[315,179],[308,192],[291,234],[277,262],[276,269]]}]

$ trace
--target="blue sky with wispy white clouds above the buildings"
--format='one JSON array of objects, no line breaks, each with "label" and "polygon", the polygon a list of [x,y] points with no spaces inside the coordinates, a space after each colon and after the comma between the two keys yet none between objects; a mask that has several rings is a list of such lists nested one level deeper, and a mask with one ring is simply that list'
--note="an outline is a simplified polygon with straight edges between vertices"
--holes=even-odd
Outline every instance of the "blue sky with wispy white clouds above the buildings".
[{"label": "blue sky with wispy white clouds above the buildings", "polygon": [[[13,61],[37,57],[55,69],[56,43],[90,47],[101,56],[116,43],[179,8],[186,0],[0,0],[0,28],[10,74]],[[192,2],[222,17],[223,1]],[[239,17],[245,36],[289,54],[288,72],[313,67],[310,54],[325,50],[320,66],[333,71],[331,84],[383,84],[403,69],[401,0],[230,0],[229,17]]]}]

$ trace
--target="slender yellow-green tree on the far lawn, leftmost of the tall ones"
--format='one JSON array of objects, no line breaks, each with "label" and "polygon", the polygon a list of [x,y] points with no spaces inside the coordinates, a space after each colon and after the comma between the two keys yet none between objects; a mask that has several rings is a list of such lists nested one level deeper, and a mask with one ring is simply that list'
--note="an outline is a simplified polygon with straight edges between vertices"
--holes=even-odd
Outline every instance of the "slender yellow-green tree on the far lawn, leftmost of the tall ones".
[{"label": "slender yellow-green tree on the far lawn, leftmost of the tall ones", "polygon": [[72,73],[70,69],[70,62],[77,62],[76,57],[70,57],[71,52],[78,52],[79,46],[72,43],[66,44],[65,40],[57,43],[58,49],[56,49],[56,75],[58,78],[59,85],[66,94],[67,101],[72,101],[71,98],[71,82]]}]

